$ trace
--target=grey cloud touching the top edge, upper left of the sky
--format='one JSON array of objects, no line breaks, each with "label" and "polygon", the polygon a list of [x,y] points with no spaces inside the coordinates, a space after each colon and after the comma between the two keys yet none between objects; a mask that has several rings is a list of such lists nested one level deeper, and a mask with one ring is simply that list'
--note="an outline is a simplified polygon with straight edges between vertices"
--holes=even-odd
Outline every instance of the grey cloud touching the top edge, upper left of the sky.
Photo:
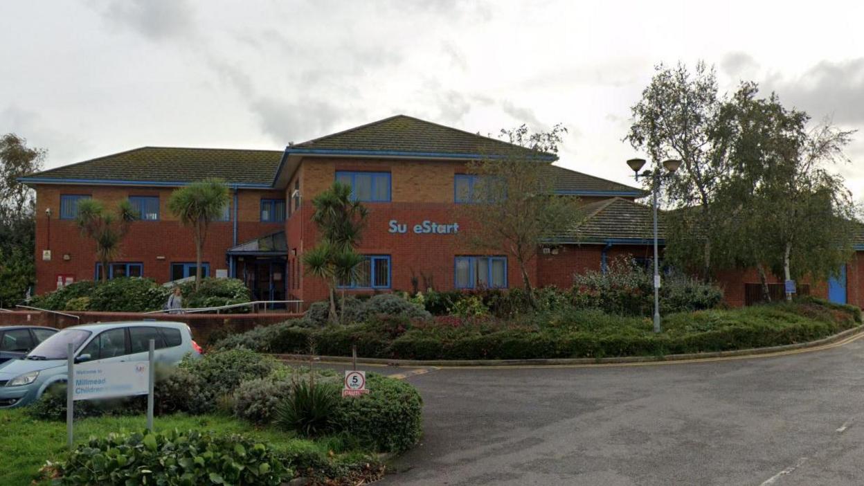
[{"label": "grey cloud touching the top edge, upper left of the sky", "polygon": [[193,13],[187,0],[114,0],[102,15],[151,41],[194,33]]}]

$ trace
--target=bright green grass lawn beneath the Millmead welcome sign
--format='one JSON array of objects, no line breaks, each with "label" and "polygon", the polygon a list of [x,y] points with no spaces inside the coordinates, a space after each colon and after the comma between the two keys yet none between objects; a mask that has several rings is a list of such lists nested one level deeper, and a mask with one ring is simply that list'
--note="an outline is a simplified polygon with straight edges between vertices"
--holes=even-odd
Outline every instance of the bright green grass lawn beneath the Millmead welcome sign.
[{"label": "bright green grass lawn beneath the Millmead welcome sign", "polygon": [[[75,422],[75,444],[86,443],[90,436],[111,432],[143,430],[143,415],[79,419]],[[341,438],[308,440],[272,428],[256,429],[242,420],[223,415],[187,415],[177,413],[156,417],[157,432],[171,429],[211,431],[220,434],[242,433],[272,446],[286,455],[303,454],[334,461],[358,463],[368,460],[364,451],[350,450]],[[46,460],[59,460],[67,451],[66,423],[31,419],[22,409],[0,410],[0,484],[26,486],[37,476]],[[45,482],[48,484],[48,482]]]}]

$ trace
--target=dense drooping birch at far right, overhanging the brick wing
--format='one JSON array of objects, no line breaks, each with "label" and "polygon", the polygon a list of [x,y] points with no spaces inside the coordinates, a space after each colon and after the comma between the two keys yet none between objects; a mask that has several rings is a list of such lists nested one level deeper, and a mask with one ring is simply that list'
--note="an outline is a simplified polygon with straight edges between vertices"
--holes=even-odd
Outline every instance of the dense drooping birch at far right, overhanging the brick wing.
[{"label": "dense drooping birch at far right, overhanging the brick wing", "polygon": [[853,253],[851,194],[827,169],[848,161],[843,148],[853,132],[827,121],[808,130],[805,112],[758,91],[743,84],[723,109],[733,143],[715,207],[731,217],[715,236],[734,241],[727,252],[740,266],[759,270],[770,300],[766,269],[785,280],[829,278]]}]

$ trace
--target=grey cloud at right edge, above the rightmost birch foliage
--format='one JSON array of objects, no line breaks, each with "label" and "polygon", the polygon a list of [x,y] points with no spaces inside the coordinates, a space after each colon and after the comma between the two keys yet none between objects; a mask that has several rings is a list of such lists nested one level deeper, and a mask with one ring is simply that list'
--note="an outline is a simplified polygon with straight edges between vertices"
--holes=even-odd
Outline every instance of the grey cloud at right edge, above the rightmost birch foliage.
[{"label": "grey cloud at right edge, above the rightmost birch foliage", "polygon": [[774,74],[763,87],[813,118],[830,116],[840,124],[864,122],[864,57],[822,61],[797,78]]}]

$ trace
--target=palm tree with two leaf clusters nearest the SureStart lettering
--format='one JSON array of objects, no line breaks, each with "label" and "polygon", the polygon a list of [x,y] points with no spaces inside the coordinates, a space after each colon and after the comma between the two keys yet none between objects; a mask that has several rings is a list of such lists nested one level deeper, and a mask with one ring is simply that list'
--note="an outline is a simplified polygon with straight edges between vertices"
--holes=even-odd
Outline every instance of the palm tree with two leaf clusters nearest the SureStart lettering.
[{"label": "palm tree with two leaf clusters nearest the SureStart lettering", "polygon": [[[312,201],[315,210],[312,221],[321,233],[321,239],[312,249],[303,253],[307,272],[324,278],[330,301],[327,320],[339,321],[336,313],[336,287],[358,277],[363,257],[355,252],[365,227],[368,210],[351,195],[351,186],[334,182],[330,189],[316,195]],[[345,312],[345,291],[342,291],[342,312]]]}]

